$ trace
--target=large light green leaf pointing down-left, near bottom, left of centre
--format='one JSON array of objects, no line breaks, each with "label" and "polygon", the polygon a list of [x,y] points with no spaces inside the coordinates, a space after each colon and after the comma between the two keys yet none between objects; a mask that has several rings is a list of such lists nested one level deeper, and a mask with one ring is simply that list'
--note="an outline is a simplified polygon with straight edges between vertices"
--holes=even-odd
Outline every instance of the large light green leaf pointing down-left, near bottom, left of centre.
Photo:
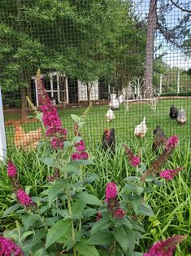
[{"label": "large light green leaf pointing down-left, near bottom, left of centre", "polygon": [[54,223],[54,226],[48,230],[46,236],[46,249],[64,236],[67,230],[71,227],[71,224],[71,221],[68,219],[61,219],[57,223]]}]

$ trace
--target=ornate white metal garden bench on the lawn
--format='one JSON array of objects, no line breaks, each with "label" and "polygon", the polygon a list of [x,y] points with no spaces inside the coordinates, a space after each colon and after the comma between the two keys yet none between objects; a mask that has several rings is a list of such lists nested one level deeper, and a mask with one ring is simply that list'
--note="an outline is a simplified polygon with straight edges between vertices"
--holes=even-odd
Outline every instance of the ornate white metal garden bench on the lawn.
[{"label": "ornate white metal garden bench on the lawn", "polygon": [[122,90],[122,95],[125,112],[129,111],[132,104],[148,104],[154,112],[157,108],[159,90],[154,86],[148,86],[145,89],[145,78],[143,77],[134,77],[128,86]]}]

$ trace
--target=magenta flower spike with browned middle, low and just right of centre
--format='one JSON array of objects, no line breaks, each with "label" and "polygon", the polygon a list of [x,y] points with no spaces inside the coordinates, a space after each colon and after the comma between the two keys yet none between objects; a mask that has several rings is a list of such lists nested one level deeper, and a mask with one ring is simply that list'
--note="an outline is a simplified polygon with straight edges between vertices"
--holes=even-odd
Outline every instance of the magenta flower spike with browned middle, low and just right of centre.
[{"label": "magenta flower spike with browned middle, low and just right of centre", "polygon": [[107,208],[114,218],[124,218],[126,212],[119,208],[117,201],[117,186],[115,183],[106,184],[106,203]]}]

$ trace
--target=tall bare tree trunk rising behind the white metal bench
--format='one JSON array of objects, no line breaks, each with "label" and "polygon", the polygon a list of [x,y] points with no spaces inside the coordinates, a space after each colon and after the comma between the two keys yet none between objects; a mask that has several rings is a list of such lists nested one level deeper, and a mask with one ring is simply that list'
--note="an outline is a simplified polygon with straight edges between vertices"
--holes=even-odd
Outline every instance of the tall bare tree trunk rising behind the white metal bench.
[{"label": "tall bare tree trunk rising behind the white metal bench", "polygon": [[146,52],[145,52],[145,86],[146,98],[150,98],[150,90],[153,86],[153,64],[154,64],[154,35],[157,24],[157,0],[150,0],[149,19],[146,32]]}]

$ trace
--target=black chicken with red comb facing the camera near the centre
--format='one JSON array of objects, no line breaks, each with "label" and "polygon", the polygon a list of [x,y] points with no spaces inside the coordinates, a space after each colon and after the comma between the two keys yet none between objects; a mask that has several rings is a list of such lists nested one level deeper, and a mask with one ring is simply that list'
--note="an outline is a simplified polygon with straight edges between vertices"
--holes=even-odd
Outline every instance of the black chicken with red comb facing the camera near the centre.
[{"label": "black chicken with red comb facing the camera near the centre", "polygon": [[112,153],[115,153],[115,129],[111,128],[111,130],[104,130],[102,135],[102,149],[106,151],[110,149]]}]

